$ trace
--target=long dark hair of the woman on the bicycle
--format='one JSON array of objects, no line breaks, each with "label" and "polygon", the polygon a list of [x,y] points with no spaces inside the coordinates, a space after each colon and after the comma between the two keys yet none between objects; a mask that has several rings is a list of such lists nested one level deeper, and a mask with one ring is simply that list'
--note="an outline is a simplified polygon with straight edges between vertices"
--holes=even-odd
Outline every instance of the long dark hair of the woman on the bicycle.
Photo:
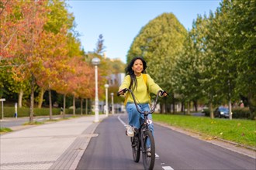
[{"label": "long dark hair of the woman on the bicycle", "polygon": [[145,61],[145,59],[143,57],[140,57],[140,56],[137,56],[137,57],[134,57],[130,63],[126,66],[126,75],[130,75],[130,87],[133,87],[133,83],[135,84],[134,88],[137,87],[137,79],[136,79],[136,76],[134,74],[134,71],[132,69],[133,67],[133,64],[134,62],[137,60],[137,59],[140,59],[143,63],[143,70],[141,73],[146,73],[146,69],[147,69],[147,63]]}]

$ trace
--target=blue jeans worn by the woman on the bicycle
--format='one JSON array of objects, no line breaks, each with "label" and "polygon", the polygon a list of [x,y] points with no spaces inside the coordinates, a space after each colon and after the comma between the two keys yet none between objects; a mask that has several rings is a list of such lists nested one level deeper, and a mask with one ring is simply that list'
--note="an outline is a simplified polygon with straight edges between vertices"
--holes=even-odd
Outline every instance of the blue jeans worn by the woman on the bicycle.
[{"label": "blue jeans worn by the woman on the bicycle", "polygon": [[[142,112],[150,110],[149,104],[138,104],[138,107],[139,107],[140,111],[142,111]],[[133,128],[139,129],[140,128],[140,117],[144,118],[144,115],[140,114],[137,111],[137,108],[136,108],[135,104],[133,104],[133,103],[126,104],[126,111],[128,113],[128,124],[130,126],[133,126]],[[152,120],[152,114],[148,114],[147,118]],[[150,131],[152,131],[152,134],[154,135],[154,125],[150,124],[148,126],[148,128],[150,129]]]}]

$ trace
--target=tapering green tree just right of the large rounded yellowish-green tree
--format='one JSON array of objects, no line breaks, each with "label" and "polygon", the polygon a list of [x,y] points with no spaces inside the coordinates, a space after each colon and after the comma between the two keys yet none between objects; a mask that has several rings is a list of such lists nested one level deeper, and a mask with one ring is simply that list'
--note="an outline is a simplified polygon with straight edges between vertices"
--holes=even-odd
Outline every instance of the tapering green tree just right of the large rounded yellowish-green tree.
[{"label": "tapering green tree just right of the large rounded yellowish-green tree", "polygon": [[[202,30],[205,20],[199,15],[193,22],[192,30],[184,42],[184,49],[175,60],[175,66],[171,73],[171,82],[174,92],[181,98],[182,103],[188,104],[187,113],[190,112],[190,102],[199,100],[200,89],[200,59],[205,53]],[[195,107],[196,108],[196,107]]]}]

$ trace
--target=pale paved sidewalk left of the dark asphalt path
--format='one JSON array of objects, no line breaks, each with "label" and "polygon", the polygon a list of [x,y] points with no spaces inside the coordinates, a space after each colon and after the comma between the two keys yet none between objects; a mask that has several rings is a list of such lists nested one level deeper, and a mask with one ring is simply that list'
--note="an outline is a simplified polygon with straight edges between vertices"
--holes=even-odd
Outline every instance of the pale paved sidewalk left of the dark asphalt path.
[{"label": "pale paved sidewalk left of the dark asphalt path", "polygon": [[1,170],[75,169],[90,139],[98,136],[94,119],[77,117],[2,134]]}]

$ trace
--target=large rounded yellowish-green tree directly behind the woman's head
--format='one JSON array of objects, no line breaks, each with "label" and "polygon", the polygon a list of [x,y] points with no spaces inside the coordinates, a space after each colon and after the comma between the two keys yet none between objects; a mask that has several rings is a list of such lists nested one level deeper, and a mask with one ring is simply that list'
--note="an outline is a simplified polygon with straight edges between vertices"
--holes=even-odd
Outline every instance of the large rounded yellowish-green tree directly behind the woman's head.
[{"label": "large rounded yellowish-green tree directly behind the woman's head", "polygon": [[[171,97],[168,100],[173,103],[173,106],[175,106],[175,100],[170,73],[178,54],[182,51],[186,35],[186,29],[178,22],[175,15],[164,13],[140,29],[127,54],[127,63],[134,56],[143,56],[147,60],[147,72],[156,83],[170,93]],[[162,103],[167,103],[168,100]]]}]

